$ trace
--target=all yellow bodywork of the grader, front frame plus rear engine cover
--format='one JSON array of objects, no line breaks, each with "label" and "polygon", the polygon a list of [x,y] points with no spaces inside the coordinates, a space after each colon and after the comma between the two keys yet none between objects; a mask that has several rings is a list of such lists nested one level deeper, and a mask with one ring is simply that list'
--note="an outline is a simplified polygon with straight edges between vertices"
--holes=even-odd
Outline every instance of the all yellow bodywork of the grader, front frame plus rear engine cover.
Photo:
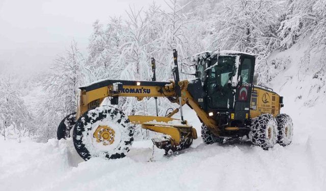
[{"label": "all yellow bodywork of the grader, front frame plus rear engine cover", "polygon": [[[193,108],[201,121],[213,132],[213,134],[220,134],[220,129],[216,128],[216,122],[210,118],[199,105],[193,99],[191,94],[187,91],[188,80],[179,81],[181,88],[181,105],[188,104]],[[144,97],[169,97],[175,95],[175,83],[171,81],[171,84],[167,84],[164,88],[159,86],[125,86],[123,89],[146,89],[150,91],[150,94],[143,93],[126,93],[126,92],[115,92],[113,85],[101,87],[91,91],[81,91],[79,95],[78,107],[77,107],[77,119],[87,112],[90,108],[97,107],[101,104],[105,97],[137,97],[139,101],[143,100]],[[280,113],[280,96],[275,92],[271,92],[259,87],[253,87],[251,96],[251,110],[250,117],[255,118],[261,114],[269,113],[273,116],[277,116]],[[179,104],[179,100],[175,100]],[[152,130],[159,133],[170,135],[172,143],[179,145],[181,140],[181,134],[186,134],[187,137],[197,139],[196,129],[189,126],[185,121],[182,125],[172,125],[169,121],[178,120],[171,118],[174,114],[179,111],[176,108],[167,117],[158,116],[128,116],[129,121],[133,124],[141,124],[142,128]],[[232,114],[231,114],[232,115]],[[248,119],[248,117],[246,117]],[[165,122],[166,125],[161,123],[149,123],[156,120],[157,122]],[[180,121],[181,124],[181,121]],[[238,130],[238,127],[226,127],[225,130]]]}]

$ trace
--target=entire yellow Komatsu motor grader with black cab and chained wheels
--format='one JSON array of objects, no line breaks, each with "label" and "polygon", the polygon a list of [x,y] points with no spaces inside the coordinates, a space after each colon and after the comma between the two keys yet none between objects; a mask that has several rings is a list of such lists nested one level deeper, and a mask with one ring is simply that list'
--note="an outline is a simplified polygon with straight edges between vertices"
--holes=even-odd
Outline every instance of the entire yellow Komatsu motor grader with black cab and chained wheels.
[{"label": "entire yellow Komatsu motor grader with black cab and chained wheels", "polygon": [[[57,131],[58,139],[70,137],[78,154],[91,157],[122,158],[133,142],[135,125],[157,132],[152,141],[166,153],[191,146],[197,139],[196,129],[183,118],[187,104],[202,122],[201,137],[205,144],[226,140],[249,140],[267,150],[276,143],[292,141],[293,124],[280,114],[283,97],[255,84],[255,56],[236,51],[196,54],[192,60],[196,78],[180,80],[177,51],[173,50],[174,80],[156,81],[152,58],[152,81],[106,79],[79,88],[76,113],[65,117]],[[138,101],[154,97],[156,116],[126,116],[113,105],[119,97],[136,97]],[[157,97],[165,97],[179,107],[167,116],[158,116]],[[110,105],[102,105],[104,98]],[[181,119],[172,118],[180,112]]]}]

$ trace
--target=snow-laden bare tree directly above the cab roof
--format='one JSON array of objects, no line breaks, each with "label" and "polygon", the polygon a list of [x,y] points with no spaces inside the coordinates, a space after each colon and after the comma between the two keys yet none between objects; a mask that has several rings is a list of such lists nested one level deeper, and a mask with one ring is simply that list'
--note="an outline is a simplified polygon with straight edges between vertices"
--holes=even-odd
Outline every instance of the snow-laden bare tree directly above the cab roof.
[{"label": "snow-laden bare tree directly above the cab roof", "polygon": [[281,7],[277,1],[241,0],[227,2],[213,15],[212,49],[232,49],[268,57],[278,48],[275,34]]}]

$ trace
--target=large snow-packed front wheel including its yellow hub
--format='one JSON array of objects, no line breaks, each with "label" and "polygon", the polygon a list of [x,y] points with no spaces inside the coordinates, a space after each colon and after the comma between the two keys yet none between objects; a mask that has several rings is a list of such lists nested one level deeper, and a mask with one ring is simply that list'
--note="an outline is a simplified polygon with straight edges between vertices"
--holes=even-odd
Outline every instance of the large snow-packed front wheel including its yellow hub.
[{"label": "large snow-packed front wheel including its yellow hub", "polygon": [[134,126],[117,108],[100,106],[86,112],[73,129],[73,143],[85,160],[123,158],[133,142]]}]

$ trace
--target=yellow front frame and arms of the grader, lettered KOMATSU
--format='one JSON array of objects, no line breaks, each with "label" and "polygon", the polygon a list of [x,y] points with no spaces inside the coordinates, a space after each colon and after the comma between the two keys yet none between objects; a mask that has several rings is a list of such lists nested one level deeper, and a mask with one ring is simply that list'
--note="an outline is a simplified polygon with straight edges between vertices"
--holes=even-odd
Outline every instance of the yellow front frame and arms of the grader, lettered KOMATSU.
[{"label": "yellow front frame and arms of the grader, lettered KOMATSU", "polygon": [[[208,114],[202,110],[202,108],[194,101],[193,97],[187,91],[188,80],[183,80],[179,82],[179,86],[181,87],[181,97],[182,97],[182,105],[188,104],[195,110],[198,117],[211,129],[215,129],[216,126],[215,121],[209,118]],[[174,91],[174,82],[171,81],[171,84],[166,85],[164,88],[158,86],[125,86],[123,85],[123,89],[146,89],[150,90],[150,94],[142,94],[142,93],[123,93],[123,92],[115,92],[113,89],[113,85],[109,85],[106,87],[101,87],[91,91],[81,91],[79,95],[79,103],[77,107],[77,119],[82,116],[85,112],[87,112],[90,108],[99,106],[105,97],[137,97],[140,101],[144,97],[167,97],[175,95]],[[179,103],[178,100],[175,101]],[[172,115],[178,112],[178,108],[174,110],[167,117],[157,117],[157,116],[128,116],[129,121],[133,124],[141,124],[142,128],[152,130],[159,133],[164,133],[170,135],[173,143],[178,145],[180,143],[181,134],[185,133],[188,137],[192,139],[197,139],[196,129],[192,126],[189,126],[187,123],[182,125],[162,125],[162,124],[154,124],[148,123],[150,121],[156,120],[158,122],[166,122],[168,124],[169,121],[177,120],[171,118]],[[181,122],[180,122],[181,123]],[[218,132],[216,132],[218,133]]]}]

